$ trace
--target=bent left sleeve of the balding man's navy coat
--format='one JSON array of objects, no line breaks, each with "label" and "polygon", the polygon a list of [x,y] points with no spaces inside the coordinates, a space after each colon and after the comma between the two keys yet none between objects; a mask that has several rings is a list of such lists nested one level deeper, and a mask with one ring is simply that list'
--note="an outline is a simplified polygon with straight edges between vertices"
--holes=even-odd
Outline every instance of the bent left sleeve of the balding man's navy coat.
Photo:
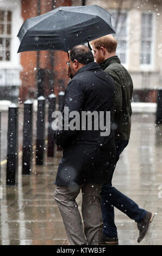
[{"label": "bent left sleeve of the balding man's navy coat", "polygon": [[[73,118],[69,118],[69,117],[67,118],[67,110],[68,110],[68,114],[72,111],[77,111],[80,114],[80,112],[82,111],[82,107],[84,105],[84,99],[85,99],[84,89],[85,89],[84,84],[74,79],[72,79],[66,87],[64,105],[62,108],[63,109],[62,111],[63,127],[62,129],[58,129],[57,131],[55,131],[55,134],[54,134],[54,141],[58,145],[58,147],[61,147],[61,148],[66,147],[68,142],[70,142],[78,132],[77,130],[72,131],[69,129],[70,121]],[[66,108],[66,113],[65,113],[65,108]]]}]

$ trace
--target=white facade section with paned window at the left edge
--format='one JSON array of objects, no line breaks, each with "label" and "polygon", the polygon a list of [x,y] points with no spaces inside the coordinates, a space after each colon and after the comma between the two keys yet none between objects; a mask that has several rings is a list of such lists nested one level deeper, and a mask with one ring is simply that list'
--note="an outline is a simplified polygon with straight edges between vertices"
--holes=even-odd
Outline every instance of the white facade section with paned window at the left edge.
[{"label": "white facade section with paned window at the left edge", "polygon": [[[0,100],[18,96],[21,86],[20,56],[17,54],[18,27],[22,24],[21,2],[0,2]],[[16,25],[16,26],[15,26]]]}]

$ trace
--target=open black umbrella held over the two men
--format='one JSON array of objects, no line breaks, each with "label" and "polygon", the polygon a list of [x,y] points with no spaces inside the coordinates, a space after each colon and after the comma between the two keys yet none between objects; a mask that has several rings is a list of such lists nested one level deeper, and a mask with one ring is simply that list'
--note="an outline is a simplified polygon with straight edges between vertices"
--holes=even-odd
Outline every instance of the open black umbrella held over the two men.
[{"label": "open black umbrella held over the two men", "polygon": [[59,7],[26,20],[20,31],[18,52],[62,50],[115,33],[111,14],[98,5]]}]

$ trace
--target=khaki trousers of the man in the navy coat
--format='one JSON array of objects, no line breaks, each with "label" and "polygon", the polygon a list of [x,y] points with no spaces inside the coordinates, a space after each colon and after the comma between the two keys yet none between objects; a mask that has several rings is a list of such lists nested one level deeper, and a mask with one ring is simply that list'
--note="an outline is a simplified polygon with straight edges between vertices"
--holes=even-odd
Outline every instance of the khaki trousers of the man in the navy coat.
[{"label": "khaki trousers of the man in the navy coat", "polygon": [[[66,234],[71,245],[99,245],[102,234],[101,184],[57,186],[54,199],[64,221]],[[76,203],[82,190],[82,219]],[[85,238],[86,237],[86,238]]]}]

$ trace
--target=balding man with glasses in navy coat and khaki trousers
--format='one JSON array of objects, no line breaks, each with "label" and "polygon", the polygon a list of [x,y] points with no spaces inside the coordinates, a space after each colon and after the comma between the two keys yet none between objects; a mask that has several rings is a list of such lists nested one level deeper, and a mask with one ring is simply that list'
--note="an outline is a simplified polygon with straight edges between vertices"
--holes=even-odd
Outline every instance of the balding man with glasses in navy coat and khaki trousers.
[{"label": "balding man with glasses in navy coat and khaki trousers", "polygon": [[[102,184],[109,180],[110,164],[115,156],[113,131],[102,136],[101,126],[94,129],[65,129],[65,107],[68,107],[70,126],[71,113],[103,113],[104,123],[107,112],[113,122],[114,81],[94,62],[88,47],[74,46],[70,52],[72,80],[65,90],[62,108],[63,129],[55,131],[55,143],[63,148],[55,180],[54,199],[63,217],[68,240],[71,245],[99,245],[102,234],[102,213],[100,192]],[[79,122],[79,119],[76,123]],[[89,125],[89,124],[88,124]],[[110,123],[109,123],[110,125]],[[67,128],[67,127],[66,127]],[[105,128],[105,131],[107,128]],[[102,130],[103,131],[103,130]],[[111,160],[111,163],[110,163]],[[82,219],[76,197],[82,190]]]}]

